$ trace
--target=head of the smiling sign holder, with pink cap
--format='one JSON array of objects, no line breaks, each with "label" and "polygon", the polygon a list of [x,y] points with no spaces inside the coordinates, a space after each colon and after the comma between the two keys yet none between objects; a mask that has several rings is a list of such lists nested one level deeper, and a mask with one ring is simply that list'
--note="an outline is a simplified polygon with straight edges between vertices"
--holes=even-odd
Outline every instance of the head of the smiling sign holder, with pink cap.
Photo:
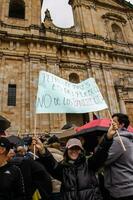
[{"label": "head of the smiling sign holder, with pink cap", "polygon": [[68,159],[74,161],[77,160],[83,150],[83,146],[79,139],[72,138],[68,140],[66,144],[66,153]]}]

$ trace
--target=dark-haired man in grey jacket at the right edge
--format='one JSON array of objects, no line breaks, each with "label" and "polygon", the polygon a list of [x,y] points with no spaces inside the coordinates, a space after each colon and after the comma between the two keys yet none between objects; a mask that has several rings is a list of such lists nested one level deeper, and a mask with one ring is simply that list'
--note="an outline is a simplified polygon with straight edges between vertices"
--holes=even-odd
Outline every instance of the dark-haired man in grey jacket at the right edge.
[{"label": "dark-haired man in grey jacket at the right edge", "polygon": [[127,131],[127,115],[116,113],[112,118],[114,126],[108,132],[113,134],[118,129],[126,151],[116,133],[105,165],[105,188],[111,200],[133,200],[133,133]]}]

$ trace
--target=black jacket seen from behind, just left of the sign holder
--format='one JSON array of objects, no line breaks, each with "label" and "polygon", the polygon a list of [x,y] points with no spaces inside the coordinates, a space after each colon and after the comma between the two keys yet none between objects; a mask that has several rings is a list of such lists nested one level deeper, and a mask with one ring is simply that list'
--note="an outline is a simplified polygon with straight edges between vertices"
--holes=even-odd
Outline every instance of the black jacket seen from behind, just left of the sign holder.
[{"label": "black jacket seen from behind, just left of the sign holder", "polygon": [[26,200],[32,200],[36,189],[39,190],[42,200],[49,200],[52,183],[49,174],[42,164],[32,159],[18,157],[12,163],[19,166],[24,178]]}]

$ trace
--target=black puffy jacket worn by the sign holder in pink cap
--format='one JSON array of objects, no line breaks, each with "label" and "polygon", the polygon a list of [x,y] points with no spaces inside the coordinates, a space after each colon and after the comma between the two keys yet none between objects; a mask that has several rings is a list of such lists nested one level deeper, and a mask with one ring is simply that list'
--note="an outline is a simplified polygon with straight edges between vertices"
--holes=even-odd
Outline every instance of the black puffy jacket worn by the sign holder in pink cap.
[{"label": "black puffy jacket worn by the sign holder in pink cap", "polygon": [[95,172],[102,166],[108,155],[112,140],[106,137],[97,152],[86,159],[83,154],[74,162],[58,163],[46,149],[41,160],[51,175],[62,182],[64,200],[101,200]]}]

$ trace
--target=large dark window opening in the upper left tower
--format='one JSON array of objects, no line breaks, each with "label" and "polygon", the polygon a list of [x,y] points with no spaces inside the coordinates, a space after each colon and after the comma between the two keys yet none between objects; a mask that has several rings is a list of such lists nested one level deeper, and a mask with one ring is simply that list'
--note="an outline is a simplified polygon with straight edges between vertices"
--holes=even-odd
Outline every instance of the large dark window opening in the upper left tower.
[{"label": "large dark window opening in the upper left tower", "polygon": [[10,0],[9,17],[25,19],[25,2],[24,2],[24,0]]}]

